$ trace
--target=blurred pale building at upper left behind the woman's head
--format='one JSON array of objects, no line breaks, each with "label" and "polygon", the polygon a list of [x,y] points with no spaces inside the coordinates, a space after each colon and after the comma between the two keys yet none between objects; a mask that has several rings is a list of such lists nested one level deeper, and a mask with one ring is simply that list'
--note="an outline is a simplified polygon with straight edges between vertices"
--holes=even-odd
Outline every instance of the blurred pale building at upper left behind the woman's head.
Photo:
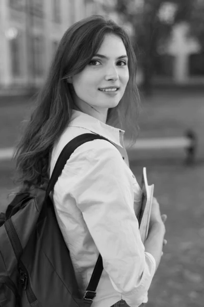
[{"label": "blurred pale building at upper left behind the woman's head", "polygon": [[1,0],[0,93],[38,88],[66,29],[96,13],[98,0]]}]

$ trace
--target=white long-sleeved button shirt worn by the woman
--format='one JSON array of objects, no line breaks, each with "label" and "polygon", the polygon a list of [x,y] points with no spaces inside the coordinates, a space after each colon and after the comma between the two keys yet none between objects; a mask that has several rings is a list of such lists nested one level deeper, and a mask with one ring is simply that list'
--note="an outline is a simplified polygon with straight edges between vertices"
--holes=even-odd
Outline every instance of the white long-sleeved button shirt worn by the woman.
[{"label": "white long-sleeved button shirt worn by the woman", "polygon": [[115,146],[94,140],[72,153],[53,193],[59,227],[82,295],[99,253],[103,258],[92,306],[109,307],[123,299],[137,307],[147,302],[156,261],[145,252],[140,237],[136,214],[141,189],[123,148],[124,131],[73,111],[70,125],[54,146],[50,173],[63,147],[85,133],[101,135]]}]

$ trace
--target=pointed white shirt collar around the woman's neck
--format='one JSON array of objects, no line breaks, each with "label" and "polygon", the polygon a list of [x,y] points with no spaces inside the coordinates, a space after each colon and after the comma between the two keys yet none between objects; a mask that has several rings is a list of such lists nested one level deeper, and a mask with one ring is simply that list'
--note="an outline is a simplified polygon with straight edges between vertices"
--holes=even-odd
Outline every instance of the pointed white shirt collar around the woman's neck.
[{"label": "pointed white shirt collar around the woman's neck", "polygon": [[123,140],[124,130],[105,124],[95,117],[81,111],[72,111],[69,126],[87,129],[92,133],[105,137],[112,143],[122,147],[120,138]]}]

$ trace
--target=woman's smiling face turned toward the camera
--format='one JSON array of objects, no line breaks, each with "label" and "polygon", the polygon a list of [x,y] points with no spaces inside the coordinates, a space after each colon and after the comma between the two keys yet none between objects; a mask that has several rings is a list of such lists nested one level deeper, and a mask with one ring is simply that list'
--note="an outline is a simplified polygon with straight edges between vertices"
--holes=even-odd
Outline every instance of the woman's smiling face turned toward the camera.
[{"label": "woman's smiling face turned toward the camera", "polygon": [[72,77],[74,101],[83,112],[107,114],[117,106],[129,80],[127,54],[119,36],[107,34],[85,69]]}]

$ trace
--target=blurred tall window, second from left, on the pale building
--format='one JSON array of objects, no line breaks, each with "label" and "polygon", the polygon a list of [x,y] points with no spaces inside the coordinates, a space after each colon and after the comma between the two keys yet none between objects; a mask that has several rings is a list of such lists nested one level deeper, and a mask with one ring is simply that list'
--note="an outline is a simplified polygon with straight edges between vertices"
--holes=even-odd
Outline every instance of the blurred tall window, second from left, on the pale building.
[{"label": "blurred tall window, second from left, on the pale building", "polygon": [[44,39],[42,36],[35,36],[33,38],[33,60],[32,71],[34,76],[41,77],[44,73]]}]

